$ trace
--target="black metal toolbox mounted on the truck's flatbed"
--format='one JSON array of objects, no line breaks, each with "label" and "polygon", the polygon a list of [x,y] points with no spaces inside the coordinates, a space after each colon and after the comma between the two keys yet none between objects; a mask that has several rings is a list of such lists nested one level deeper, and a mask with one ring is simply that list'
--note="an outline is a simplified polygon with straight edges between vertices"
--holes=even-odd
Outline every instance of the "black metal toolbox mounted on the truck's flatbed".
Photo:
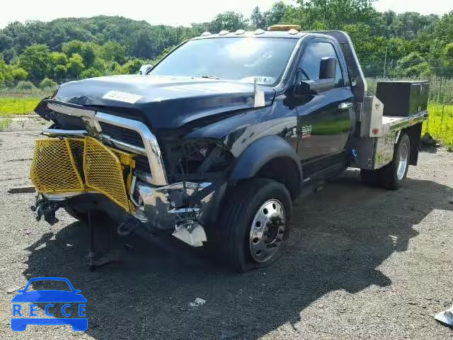
[{"label": "black metal toolbox mounted on the truck's flatbed", "polygon": [[379,81],[376,96],[384,115],[409,116],[428,107],[429,81]]}]

